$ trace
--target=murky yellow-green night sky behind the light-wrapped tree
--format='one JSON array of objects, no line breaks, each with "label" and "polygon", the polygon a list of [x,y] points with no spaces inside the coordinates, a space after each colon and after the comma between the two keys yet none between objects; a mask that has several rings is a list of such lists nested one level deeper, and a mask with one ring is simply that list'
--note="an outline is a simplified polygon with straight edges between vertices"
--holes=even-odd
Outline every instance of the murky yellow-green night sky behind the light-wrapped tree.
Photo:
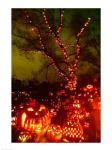
[{"label": "murky yellow-green night sky behind the light-wrapped tree", "polygon": [[[25,19],[25,13],[29,18]],[[59,9],[48,10],[50,24],[53,30],[59,22]],[[87,18],[91,17],[91,22],[82,34],[80,45],[81,55],[79,60],[79,69],[77,75],[100,76],[100,9],[65,9],[63,26],[60,37],[63,43],[76,44],[76,34],[80,31]],[[32,20],[33,25],[28,21]],[[12,77],[19,80],[37,80],[57,81],[59,80],[57,72],[54,69],[50,59],[42,55],[39,46],[39,40],[36,38],[32,27],[38,25],[42,30],[43,40],[47,50],[52,53],[62,68],[62,54],[55,45],[53,37],[48,37],[43,24],[41,9],[12,9]],[[74,60],[76,50],[68,49],[71,64]],[[48,67],[49,66],[49,67]]]}]

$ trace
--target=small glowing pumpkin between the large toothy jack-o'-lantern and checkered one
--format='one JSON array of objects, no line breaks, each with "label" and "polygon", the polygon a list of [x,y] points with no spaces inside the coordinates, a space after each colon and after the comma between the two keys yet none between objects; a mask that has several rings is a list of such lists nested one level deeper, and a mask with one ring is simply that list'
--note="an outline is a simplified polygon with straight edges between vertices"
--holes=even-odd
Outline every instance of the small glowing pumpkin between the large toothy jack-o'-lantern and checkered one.
[{"label": "small glowing pumpkin between the large toothy jack-o'-lantern and checkered one", "polygon": [[60,142],[62,139],[62,130],[60,125],[50,125],[47,131],[47,138],[51,142]]}]

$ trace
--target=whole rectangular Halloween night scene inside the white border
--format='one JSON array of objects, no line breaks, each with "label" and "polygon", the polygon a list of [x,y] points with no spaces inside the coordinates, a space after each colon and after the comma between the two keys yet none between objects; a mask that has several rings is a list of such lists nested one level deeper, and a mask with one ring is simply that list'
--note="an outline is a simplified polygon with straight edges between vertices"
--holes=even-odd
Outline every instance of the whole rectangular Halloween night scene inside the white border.
[{"label": "whole rectangular Halloween night scene inside the white border", "polygon": [[100,142],[98,16],[13,9],[12,142]]}]

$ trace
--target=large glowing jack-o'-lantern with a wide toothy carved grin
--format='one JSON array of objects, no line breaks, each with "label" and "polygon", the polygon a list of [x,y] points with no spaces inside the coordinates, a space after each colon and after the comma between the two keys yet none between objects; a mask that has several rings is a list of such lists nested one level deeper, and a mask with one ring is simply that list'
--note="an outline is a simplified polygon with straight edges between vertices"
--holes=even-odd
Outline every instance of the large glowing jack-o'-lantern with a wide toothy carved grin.
[{"label": "large glowing jack-o'-lantern with a wide toothy carved grin", "polygon": [[21,115],[21,126],[36,133],[40,133],[49,124],[49,112],[43,105],[40,105],[39,109],[27,107]]}]

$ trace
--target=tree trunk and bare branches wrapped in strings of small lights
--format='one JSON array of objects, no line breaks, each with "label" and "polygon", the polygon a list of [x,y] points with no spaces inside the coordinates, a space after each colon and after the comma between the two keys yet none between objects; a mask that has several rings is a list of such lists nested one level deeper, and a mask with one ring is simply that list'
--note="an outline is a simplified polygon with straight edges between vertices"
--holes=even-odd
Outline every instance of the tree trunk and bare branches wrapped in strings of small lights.
[{"label": "tree trunk and bare branches wrapped in strings of small lights", "polygon": [[59,46],[59,48],[60,48],[60,50],[64,56],[64,60],[67,64],[69,75],[66,75],[66,73],[60,68],[58,63],[56,63],[55,58],[46,50],[44,41],[42,40],[43,38],[42,38],[41,31],[40,31],[39,27],[34,26],[33,21],[30,18],[30,15],[27,14],[27,11],[25,11],[25,14],[26,14],[25,20],[28,19],[28,22],[30,23],[30,25],[33,26],[33,27],[31,27],[31,31],[35,32],[38,35],[39,42],[40,42],[40,45],[42,47],[42,53],[45,54],[48,58],[50,58],[50,60],[52,61],[52,65],[54,66],[54,68],[58,72],[59,76],[64,77],[64,79],[67,81],[68,84],[66,85],[65,88],[69,88],[72,91],[75,90],[76,85],[77,85],[77,77],[76,77],[75,71],[77,69],[78,59],[79,59],[79,55],[80,55],[80,37],[81,37],[81,34],[83,33],[84,29],[86,28],[86,26],[89,24],[91,18],[88,18],[88,21],[84,24],[83,28],[81,28],[80,32],[77,34],[77,42],[76,42],[77,43],[76,44],[77,54],[75,56],[75,63],[73,65],[73,67],[71,67],[70,58],[67,54],[67,47],[69,47],[70,45],[67,44],[67,46],[65,46],[59,37],[59,34],[61,32],[61,28],[63,25],[62,21],[63,21],[63,17],[64,17],[64,10],[60,11],[59,25],[57,27],[56,33],[53,31],[51,25],[49,24],[47,10],[43,9],[43,11],[42,11],[44,22],[47,25],[48,31],[51,35],[54,36],[55,42]]}]

